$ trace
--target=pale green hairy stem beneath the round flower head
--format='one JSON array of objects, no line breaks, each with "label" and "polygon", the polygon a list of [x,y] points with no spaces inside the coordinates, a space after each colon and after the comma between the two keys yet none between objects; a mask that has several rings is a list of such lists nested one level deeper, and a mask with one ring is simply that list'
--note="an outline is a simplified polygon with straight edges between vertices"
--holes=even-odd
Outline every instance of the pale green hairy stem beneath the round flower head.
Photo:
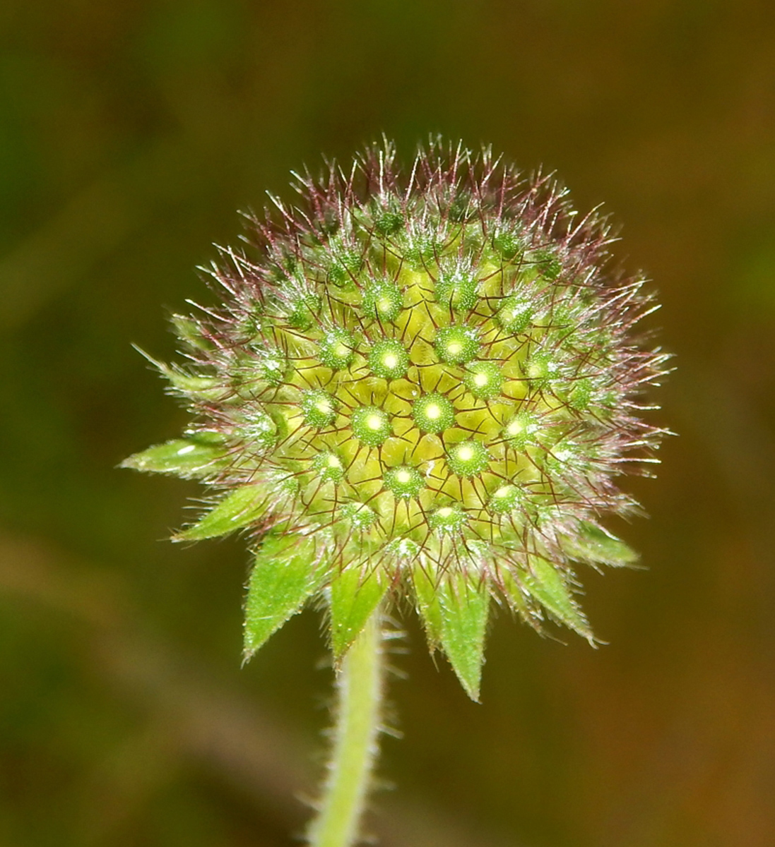
[{"label": "pale green hairy stem beneath the round flower head", "polygon": [[337,674],[332,761],[320,811],[309,828],[311,847],[350,847],[358,839],[382,717],[381,623],[377,609]]}]

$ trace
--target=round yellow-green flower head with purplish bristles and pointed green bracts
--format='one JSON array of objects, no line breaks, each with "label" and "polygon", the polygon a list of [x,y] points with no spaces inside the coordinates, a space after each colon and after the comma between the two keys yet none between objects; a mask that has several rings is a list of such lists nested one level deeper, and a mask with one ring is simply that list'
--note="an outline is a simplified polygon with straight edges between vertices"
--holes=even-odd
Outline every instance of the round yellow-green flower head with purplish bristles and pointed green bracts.
[{"label": "round yellow-green flower head with purplish bristles and pointed green bracts", "polygon": [[440,141],[297,188],[212,268],[223,305],[175,318],[189,364],[158,366],[190,431],[126,462],[209,484],[176,538],[250,531],[247,654],[315,596],[339,657],[410,595],[473,697],[491,597],[592,640],[572,567],[633,561],[600,522],[654,461],[633,398],[664,363],[633,340],[650,298],[606,270],[605,221]]}]

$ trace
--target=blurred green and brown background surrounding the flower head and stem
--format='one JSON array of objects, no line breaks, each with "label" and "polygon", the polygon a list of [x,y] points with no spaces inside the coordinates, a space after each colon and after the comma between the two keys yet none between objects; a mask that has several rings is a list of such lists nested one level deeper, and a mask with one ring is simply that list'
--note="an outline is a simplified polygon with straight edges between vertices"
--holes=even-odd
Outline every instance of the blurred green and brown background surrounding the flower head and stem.
[{"label": "blurred green and brown background surrounding the flower head and stem", "polygon": [[585,573],[590,650],[502,613],[483,704],[405,615],[385,847],[775,844],[775,6],[761,0],[3,0],[0,844],[291,845],[321,617],[241,669],[241,540],[115,466],[185,420],[131,349],[321,153],[429,131],[557,169],[677,354],[641,572]]}]

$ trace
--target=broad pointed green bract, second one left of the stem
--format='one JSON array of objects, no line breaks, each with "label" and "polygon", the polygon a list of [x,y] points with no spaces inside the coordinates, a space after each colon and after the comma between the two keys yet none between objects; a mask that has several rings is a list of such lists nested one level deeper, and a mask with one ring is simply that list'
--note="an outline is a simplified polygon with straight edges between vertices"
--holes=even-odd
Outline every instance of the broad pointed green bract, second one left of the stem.
[{"label": "broad pointed green bract, second one left of the stem", "polygon": [[321,586],[326,556],[311,535],[269,535],[255,556],[245,599],[249,659]]}]

